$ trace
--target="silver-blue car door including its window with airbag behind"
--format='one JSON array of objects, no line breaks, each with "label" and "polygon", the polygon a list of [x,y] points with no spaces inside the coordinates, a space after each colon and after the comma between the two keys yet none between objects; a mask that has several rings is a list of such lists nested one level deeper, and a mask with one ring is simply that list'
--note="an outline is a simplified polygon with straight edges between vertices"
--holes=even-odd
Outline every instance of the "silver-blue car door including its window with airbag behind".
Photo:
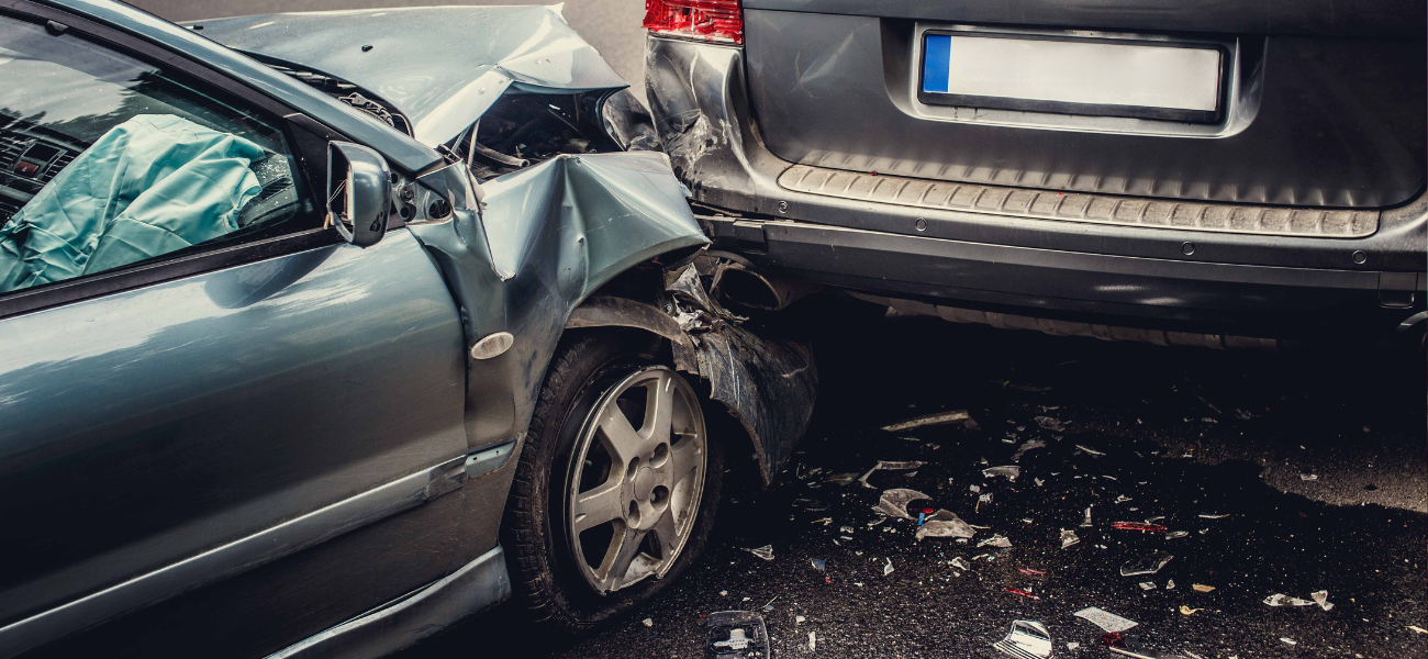
[{"label": "silver-blue car door including its window with airbag behind", "polygon": [[167,60],[0,13],[0,656],[421,504],[466,454],[430,258],[341,242],[284,108]]}]

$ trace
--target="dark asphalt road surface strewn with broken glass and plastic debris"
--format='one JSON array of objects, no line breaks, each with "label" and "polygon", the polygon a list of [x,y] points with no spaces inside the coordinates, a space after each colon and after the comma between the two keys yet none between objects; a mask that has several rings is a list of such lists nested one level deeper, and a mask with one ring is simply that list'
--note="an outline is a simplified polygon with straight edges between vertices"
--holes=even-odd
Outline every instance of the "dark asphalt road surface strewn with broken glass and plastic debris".
[{"label": "dark asphalt road surface strewn with broken glass and plastic debris", "polygon": [[[1057,658],[1114,656],[1074,616],[1090,606],[1137,622],[1122,638],[1145,656],[1428,656],[1411,628],[1428,628],[1428,409],[1414,357],[1215,352],[920,318],[828,354],[795,464],[725,502],[678,588],[573,645],[541,645],[506,606],[401,659],[700,658],[703,616],[724,609],[761,612],[784,658],[1004,656],[991,643],[1018,619],[1044,623]],[[975,424],[881,429],[958,409]],[[925,464],[838,484],[877,461]],[[1002,465],[1018,478],[984,475]],[[891,488],[928,495],[912,508],[951,511],[975,536],[918,542],[915,521],[873,511]],[[1167,531],[1112,526],[1147,521]],[[1078,542],[1062,548],[1062,529]],[[978,546],[995,535],[1011,546]],[[747,551],[764,545],[773,561]],[[1174,558],[1121,575],[1155,552]],[[1331,609],[1265,603],[1317,591]]]}]

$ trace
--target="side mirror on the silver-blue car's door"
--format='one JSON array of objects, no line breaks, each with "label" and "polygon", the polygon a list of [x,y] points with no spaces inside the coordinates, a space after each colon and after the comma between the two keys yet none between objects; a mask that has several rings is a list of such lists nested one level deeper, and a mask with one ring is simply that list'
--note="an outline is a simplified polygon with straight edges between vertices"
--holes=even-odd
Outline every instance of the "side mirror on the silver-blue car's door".
[{"label": "side mirror on the silver-blue car's door", "polygon": [[350,141],[327,144],[327,221],[347,242],[377,244],[391,211],[391,171],[377,151]]}]

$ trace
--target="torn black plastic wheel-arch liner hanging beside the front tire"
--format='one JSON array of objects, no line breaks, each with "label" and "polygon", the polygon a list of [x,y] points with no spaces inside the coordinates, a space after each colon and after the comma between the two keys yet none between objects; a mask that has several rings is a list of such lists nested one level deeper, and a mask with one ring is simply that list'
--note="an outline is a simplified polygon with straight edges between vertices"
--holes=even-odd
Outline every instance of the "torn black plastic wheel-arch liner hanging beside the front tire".
[{"label": "torn black plastic wheel-arch liner hanging beside the front tire", "polygon": [[813,349],[741,327],[707,295],[691,265],[670,280],[668,312],[597,295],[570,315],[567,327],[635,327],[668,339],[675,368],[704,379],[710,398],[744,426],[768,485],[788,464],[813,418],[818,391]]}]

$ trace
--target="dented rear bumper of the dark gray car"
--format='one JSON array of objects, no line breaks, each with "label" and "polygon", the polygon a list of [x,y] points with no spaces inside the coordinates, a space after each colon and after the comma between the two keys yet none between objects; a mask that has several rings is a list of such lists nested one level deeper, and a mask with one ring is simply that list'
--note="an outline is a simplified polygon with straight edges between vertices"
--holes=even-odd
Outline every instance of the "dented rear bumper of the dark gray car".
[{"label": "dented rear bumper of the dark gray car", "polygon": [[1425,197],[1374,217],[1265,208],[1242,223],[1242,207],[1212,204],[1130,221],[1121,203],[1094,210],[1107,198],[1040,211],[1007,188],[995,204],[957,193],[930,204],[935,193],[900,195],[902,178],[865,191],[865,175],[810,191],[764,147],[744,76],[740,48],[648,40],[651,110],[707,207],[714,248],[771,272],[935,305],[1248,337],[1374,337],[1421,318]]}]

